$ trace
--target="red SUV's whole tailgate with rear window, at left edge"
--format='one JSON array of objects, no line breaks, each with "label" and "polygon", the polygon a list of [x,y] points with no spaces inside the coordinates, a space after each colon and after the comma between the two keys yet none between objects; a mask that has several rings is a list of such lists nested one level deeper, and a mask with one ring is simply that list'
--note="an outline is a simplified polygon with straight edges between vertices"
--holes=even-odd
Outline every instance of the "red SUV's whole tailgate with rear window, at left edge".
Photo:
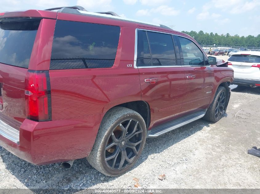
[{"label": "red SUV's whole tailgate with rear window, at left edge", "polygon": [[17,129],[26,118],[25,77],[40,21],[0,20],[0,120]]}]

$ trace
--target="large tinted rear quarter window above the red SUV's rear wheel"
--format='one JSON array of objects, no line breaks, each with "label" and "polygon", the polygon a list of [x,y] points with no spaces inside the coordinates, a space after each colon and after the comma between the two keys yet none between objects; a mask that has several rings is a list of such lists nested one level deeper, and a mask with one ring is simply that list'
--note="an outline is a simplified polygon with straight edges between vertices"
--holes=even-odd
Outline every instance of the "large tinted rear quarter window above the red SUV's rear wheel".
[{"label": "large tinted rear quarter window above the red SUV's rear wheel", "polygon": [[50,70],[114,65],[119,26],[57,20]]}]

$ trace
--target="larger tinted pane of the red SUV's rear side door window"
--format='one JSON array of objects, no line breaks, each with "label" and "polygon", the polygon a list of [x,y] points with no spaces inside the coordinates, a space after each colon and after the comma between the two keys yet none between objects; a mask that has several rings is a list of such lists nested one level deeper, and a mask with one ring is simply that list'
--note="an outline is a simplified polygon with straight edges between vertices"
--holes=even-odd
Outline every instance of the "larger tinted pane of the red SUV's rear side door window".
[{"label": "larger tinted pane of the red SUV's rear side door window", "polygon": [[153,66],[174,66],[176,56],[172,36],[157,32],[147,32]]}]

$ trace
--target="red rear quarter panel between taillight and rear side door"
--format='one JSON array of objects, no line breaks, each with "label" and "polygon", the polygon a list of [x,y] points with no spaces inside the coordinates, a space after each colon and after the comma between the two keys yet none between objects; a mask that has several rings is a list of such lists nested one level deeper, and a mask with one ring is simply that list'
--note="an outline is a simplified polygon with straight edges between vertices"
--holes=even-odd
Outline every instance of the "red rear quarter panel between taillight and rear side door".
[{"label": "red rear quarter panel between taillight and rear side door", "polygon": [[101,114],[141,100],[137,69],[50,70],[50,79],[53,120]]}]

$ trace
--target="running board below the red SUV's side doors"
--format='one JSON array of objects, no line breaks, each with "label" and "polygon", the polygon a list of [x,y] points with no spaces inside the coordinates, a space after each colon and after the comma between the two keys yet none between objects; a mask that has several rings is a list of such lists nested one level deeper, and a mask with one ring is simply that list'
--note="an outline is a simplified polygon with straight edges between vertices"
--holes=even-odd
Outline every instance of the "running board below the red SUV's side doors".
[{"label": "running board below the red SUV's side doors", "polygon": [[207,109],[199,112],[194,112],[192,114],[185,115],[161,125],[155,126],[151,130],[147,131],[147,137],[158,137],[159,135],[182,127],[183,125],[191,123],[195,120],[201,119],[206,114],[206,111]]}]

